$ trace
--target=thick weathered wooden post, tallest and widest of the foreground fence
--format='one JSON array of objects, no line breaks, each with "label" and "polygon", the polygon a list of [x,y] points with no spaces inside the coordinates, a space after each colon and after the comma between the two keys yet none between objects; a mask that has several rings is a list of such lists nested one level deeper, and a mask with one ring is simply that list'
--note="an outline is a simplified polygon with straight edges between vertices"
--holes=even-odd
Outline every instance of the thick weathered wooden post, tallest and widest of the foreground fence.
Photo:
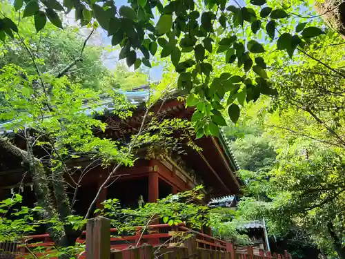
[{"label": "thick weathered wooden post, tallest and widest of the foreground fence", "polygon": [[86,224],[86,259],[110,259],[110,220],[97,217]]}]

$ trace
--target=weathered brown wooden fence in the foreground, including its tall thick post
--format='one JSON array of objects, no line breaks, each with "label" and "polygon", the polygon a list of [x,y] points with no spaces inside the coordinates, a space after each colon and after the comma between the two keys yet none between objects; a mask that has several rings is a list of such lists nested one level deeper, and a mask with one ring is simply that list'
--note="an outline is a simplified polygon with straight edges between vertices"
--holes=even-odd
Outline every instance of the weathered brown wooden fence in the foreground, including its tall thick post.
[{"label": "weathered brown wooden fence in the foreground, including its tall thick post", "polygon": [[[215,247],[216,249],[200,248],[200,240],[193,235],[183,240],[179,246],[168,246],[166,244],[152,245],[142,244],[141,246],[130,246],[126,249],[117,250],[110,248],[110,220],[97,217],[88,220],[86,229],[86,253],[81,257],[86,259],[291,259],[285,251],[284,255],[271,255],[268,251],[260,250],[254,254],[253,247],[248,246],[245,253],[235,251],[233,244],[224,242]],[[198,233],[198,232],[196,232]],[[139,240],[140,241],[140,240]],[[201,240],[202,241],[202,240]],[[139,244],[139,242],[137,242]],[[201,242],[201,244],[203,244]]]}]

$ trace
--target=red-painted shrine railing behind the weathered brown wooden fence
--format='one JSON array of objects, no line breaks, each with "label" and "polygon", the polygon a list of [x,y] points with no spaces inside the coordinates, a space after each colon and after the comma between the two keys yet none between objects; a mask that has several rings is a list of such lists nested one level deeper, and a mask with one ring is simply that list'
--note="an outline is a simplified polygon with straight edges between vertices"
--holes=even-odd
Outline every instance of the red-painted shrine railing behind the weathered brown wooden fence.
[{"label": "red-painted shrine railing behind the weathered brown wooden fence", "polygon": [[[148,226],[141,226],[135,227],[133,231],[133,235],[130,236],[115,236],[117,233],[117,229],[110,229],[107,228],[108,233],[110,231],[110,248],[118,250],[126,250],[128,247],[139,247],[142,244],[150,244],[152,247],[173,247],[179,242],[179,236],[183,233],[191,233],[195,236],[196,248],[201,249],[202,251],[215,251],[219,253],[229,253],[233,255],[232,258],[250,258],[250,259],[261,259],[261,258],[284,258],[288,259],[290,256],[286,253],[285,255],[270,255],[268,251],[258,250],[255,251],[253,247],[244,247],[244,251],[241,249],[235,249],[233,244],[230,242],[226,242],[219,238],[214,238],[212,236],[208,236],[205,233],[200,233],[199,231],[194,231],[192,229],[188,229],[185,224],[179,224],[177,226],[170,226],[169,224],[152,224]],[[77,242],[83,243],[86,242],[86,232],[83,231],[81,236],[77,239]],[[181,235],[179,235],[181,233]],[[50,248],[54,246],[54,242],[50,239],[49,234],[41,234],[41,235],[32,235],[27,236],[26,240],[27,247],[35,248],[35,247],[47,247],[47,251],[45,253],[50,253]],[[109,241],[108,241],[109,242]],[[199,250],[199,251],[201,251]],[[23,245],[17,247],[17,251],[19,251],[22,255],[28,254],[28,250]],[[20,256],[17,258],[21,258]],[[84,253],[79,255],[79,259],[84,259]]]}]

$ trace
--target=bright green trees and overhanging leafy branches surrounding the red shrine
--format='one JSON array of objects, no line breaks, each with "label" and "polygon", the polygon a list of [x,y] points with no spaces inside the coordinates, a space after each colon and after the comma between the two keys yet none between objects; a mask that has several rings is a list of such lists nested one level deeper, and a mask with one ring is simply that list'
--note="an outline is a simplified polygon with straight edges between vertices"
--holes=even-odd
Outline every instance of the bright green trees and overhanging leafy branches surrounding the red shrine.
[{"label": "bright green trees and overhanging leafy branches surrounding the red shrine", "polygon": [[[68,161],[82,154],[112,167],[100,193],[121,166],[132,166],[144,144],[179,150],[188,142],[197,149],[191,137],[221,132],[241,166],[239,208],[225,219],[208,211],[201,220],[193,215],[205,208],[178,202],[183,215],[242,243],[248,240],[236,224],[264,218],[270,240],[293,258],[313,253],[344,259],[345,41],[344,26],[333,20],[343,2],[129,2],[121,7],[113,1],[0,2],[0,119],[9,122],[3,124],[0,147],[23,161],[37,197],[37,207],[19,211],[11,208],[19,206],[20,195],[1,202],[0,240],[44,225],[62,248],[60,258],[72,258],[83,249],[75,240],[97,197],[86,215],[75,213],[75,197],[63,182],[63,175],[75,170]],[[109,62],[116,68],[108,69]],[[159,84],[150,80],[152,66],[164,68]],[[107,125],[79,113],[97,107],[106,95],[113,99],[113,113],[126,119],[133,106],[115,89],[146,84],[155,94],[130,140],[95,136],[95,129],[105,131]],[[148,115],[171,91],[195,106],[192,122]],[[96,110],[93,115],[104,112]],[[172,129],[185,134],[175,140]],[[9,131],[28,145],[15,146]],[[44,158],[34,153],[38,146],[46,151]],[[128,226],[150,222],[152,215],[171,224],[184,220],[182,213],[170,214],[164,202],[150,206],[130,211],[145,222]],[[108,208],[116,210],[117,202],[108,201]],[[221,224],[230,219],[234,224]]]}]

